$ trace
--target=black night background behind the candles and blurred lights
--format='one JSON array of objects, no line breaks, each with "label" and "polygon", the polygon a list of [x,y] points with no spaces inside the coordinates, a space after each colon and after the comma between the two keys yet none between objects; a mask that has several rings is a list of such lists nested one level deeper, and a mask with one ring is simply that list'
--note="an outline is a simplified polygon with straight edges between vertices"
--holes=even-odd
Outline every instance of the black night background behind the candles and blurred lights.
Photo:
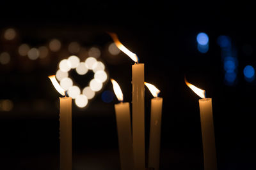
[{"label": "black night background behind the candles and blurred lights", "polygon": [[[127,2],[1,2],[0,52],[12,53],[0,65],[0,99],[13,102],[0,111],[0,169],[58,169],[58,97],[49,74],[56,73],[65,53],[51,53],[47,62],[20,59],[17,46],[47,45],[52,38],[90,48],[98,46],[109,76],[120,83],[124,101],[131,102],[132,60],[124,53],[110,59],[106,31],[145,63],[145,81],[163,97],[161,169],[203,169],[198,99],[184,83],[205,89],[212,97],[219,169],[256,169],[255,81],[244,80],[244,66],[255,64],[255,4],[228,1]],[[7,42],[5,29],[18,32]],[[209,51],[200,53],[196,35],[209,36]],[[229,36],[237,51],[237,80],[224,81],[220,35]],[[246,55],[244,45],[253,52]],[[67,46],[66,46],[67,47]],[[43,64],[42,64],[43,63]],[[86,78],[85,78],[86,79]],[[88,80],[86,80],[88,81]],[[83,83],[83,82],[77,82]],[[104,90],[112,91],[108,81]],[[85,109],[72,107],[73,169],[120,169],[114,104],[104,103],[102,90]],[[152,96],[145,90],[146,145]]]}]

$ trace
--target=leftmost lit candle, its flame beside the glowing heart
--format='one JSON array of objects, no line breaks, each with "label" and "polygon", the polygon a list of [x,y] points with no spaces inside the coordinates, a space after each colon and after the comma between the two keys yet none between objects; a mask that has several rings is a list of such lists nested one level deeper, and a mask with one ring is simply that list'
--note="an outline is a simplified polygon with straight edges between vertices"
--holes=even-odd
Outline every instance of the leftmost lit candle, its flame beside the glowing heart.
[{"label": "leftmost lit candle, its flame beside the glowing heart", "polygon": [[[65,90],[55,78],[49,76],[55,89],[65,96]],[[72,169],[72,99],[60,97],[60,170]]]}]

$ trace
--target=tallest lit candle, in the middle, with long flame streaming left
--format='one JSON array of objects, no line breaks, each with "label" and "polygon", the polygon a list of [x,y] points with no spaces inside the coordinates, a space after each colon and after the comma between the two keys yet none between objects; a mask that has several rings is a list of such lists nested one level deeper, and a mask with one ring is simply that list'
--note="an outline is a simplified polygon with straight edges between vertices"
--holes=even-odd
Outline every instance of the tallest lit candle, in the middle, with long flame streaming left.
[{"label": "tallest lit candle, in the middle, with long flame streaming left", "polygon": [[144,106],[144,64],[138,63],[135,53],[129,51],[116,34],[109,33],[115,45],[126,53],[135,64],[132,65],[132,145],[134,168],[145,170],[145,106]]}]

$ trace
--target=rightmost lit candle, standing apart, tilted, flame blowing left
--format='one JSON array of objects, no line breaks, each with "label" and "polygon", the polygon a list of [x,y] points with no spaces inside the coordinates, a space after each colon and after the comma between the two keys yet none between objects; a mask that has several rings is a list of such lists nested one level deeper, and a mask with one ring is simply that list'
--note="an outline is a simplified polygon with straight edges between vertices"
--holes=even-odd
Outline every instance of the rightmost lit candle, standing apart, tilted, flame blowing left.
[{"label": "rightmost lit candle, standing apart, tilted, flame blowing left", "polygon": [[204,169],[216,170],[217,160],[214,137],[214,125],[212,117],[212,99],[205,98],[205,90],[198,89],[191,83],[188,83],[186,79],[185,82],[190,89],[192,89],[198,96],[202,98],[199,100],[199,108],[202,131],[202,143],[204,150]]}]

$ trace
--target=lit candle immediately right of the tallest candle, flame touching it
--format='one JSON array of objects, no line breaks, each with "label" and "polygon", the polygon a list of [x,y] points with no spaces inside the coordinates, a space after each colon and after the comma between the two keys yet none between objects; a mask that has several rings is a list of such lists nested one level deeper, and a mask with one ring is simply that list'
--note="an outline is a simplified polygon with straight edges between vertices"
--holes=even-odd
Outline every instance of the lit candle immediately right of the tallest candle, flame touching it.
[{"label": "lit candle immediately right of the tallest candle, flame touching it", "polygon": [[158,90],[154,85],[146,82],[145,85],[154,96],[154,98],[151,99],[148,167],[153,167],[155,170],[158,170],[160,157],[163,98],[158,97],[160,90]]}]

